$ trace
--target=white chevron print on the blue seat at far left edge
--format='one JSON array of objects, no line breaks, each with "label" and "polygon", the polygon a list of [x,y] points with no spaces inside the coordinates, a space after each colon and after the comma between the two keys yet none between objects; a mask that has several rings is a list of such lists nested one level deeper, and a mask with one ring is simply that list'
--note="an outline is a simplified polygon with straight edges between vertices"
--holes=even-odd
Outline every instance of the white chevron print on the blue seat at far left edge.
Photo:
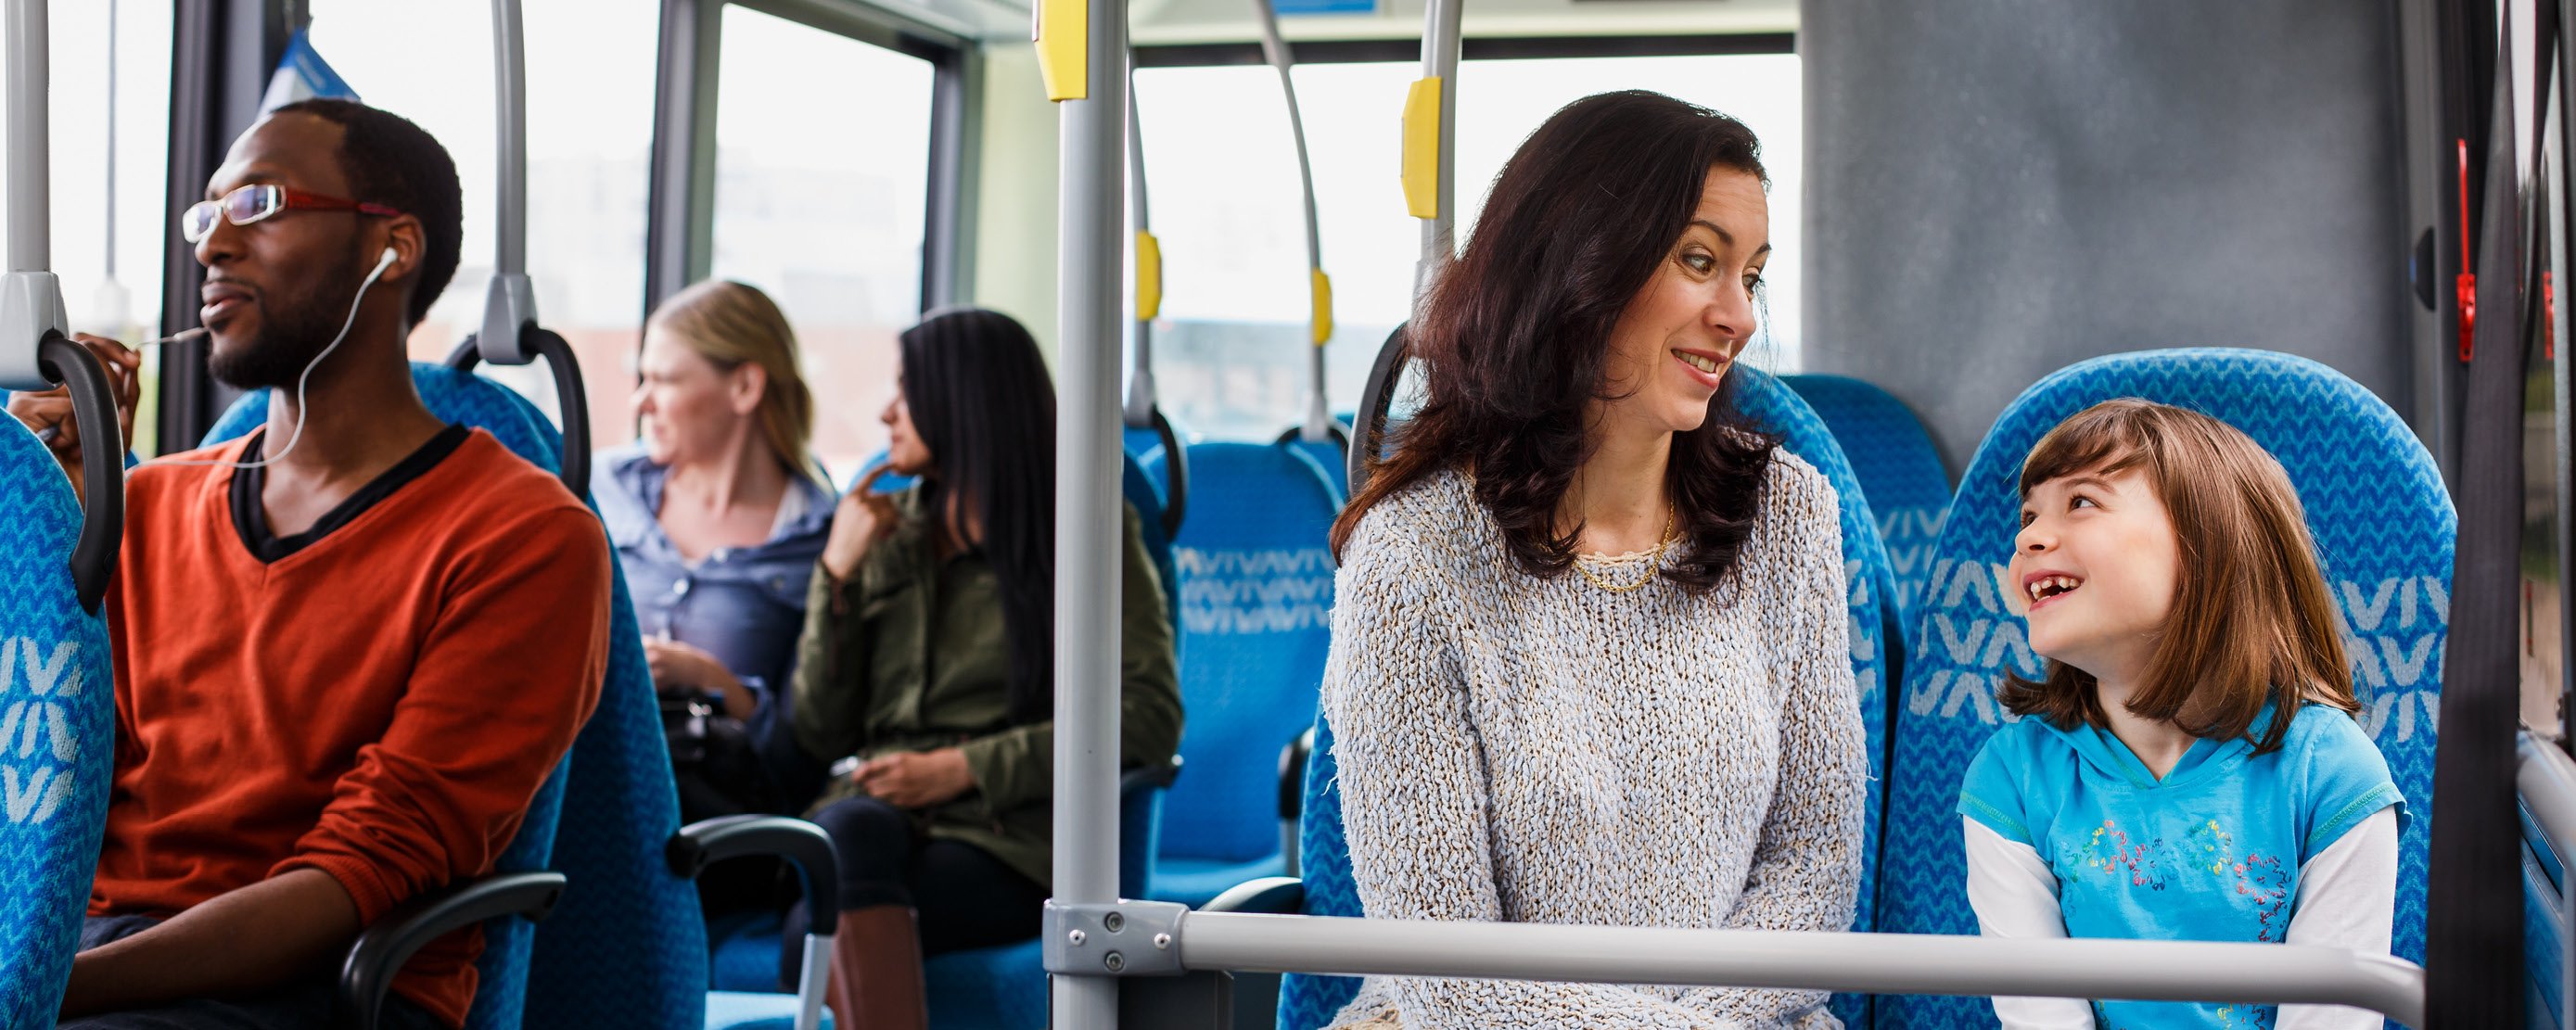
[{"label": "white chevron print on the blue seat at far left edge", "polygon": [[64,700],[80,698],[77,657],[75,641],[0,641],[0,811],[13,824],[41,824],[72,796],[80,731]]}]

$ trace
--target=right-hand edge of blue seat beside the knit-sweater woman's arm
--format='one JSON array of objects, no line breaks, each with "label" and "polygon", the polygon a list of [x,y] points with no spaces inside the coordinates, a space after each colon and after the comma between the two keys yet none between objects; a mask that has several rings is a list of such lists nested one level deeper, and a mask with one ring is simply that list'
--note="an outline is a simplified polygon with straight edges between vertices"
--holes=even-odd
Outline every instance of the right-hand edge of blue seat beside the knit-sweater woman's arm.
[{"label": "right-hand edge of blue seat beside the knit-sweater woman's arm", "polygon": [[[1855,464],[1824,417],[1808,407],[1806,397],[1757,368],[1739,366],[1726,376],[1731,402],[1754,427],[1780,438],[1780,448],[1795,453],[1834,484],[1842,507],[1842,577],[1844,605],[1852,610],[1852,685],[1860,693],[1860,726],[1870,754],[1870,788],[1862,801],[1860,829],[1860,904],[1852,930],[1868,932],[1873,922],[1873,886],[1878,883],[1880,816],[1886,814],[1888,778],[1888,685],[1896,682],[1896,657],[1904,654],[1893,631],[1896,592],[1888,566],[1888,546],[1878,536],[1865,487],[1855,479]],[[1837,994],[1834,1015],[1844,1025],[1868,1025],[1868,999]]]}]

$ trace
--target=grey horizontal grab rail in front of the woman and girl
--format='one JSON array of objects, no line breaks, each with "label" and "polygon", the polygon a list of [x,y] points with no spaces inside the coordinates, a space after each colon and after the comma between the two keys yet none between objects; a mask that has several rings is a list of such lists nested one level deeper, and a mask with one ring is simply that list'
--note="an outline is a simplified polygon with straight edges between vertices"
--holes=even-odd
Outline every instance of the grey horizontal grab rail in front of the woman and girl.
[{"label": "grey horizontal grab rail in front of the woman and girl", "polygon": [[1200,971],[2352,1004],[2403,1025],[2424,1025],[2421,966],[2334,948],[1236,912],[1190,912],[1180,927],[1180,963]]}]

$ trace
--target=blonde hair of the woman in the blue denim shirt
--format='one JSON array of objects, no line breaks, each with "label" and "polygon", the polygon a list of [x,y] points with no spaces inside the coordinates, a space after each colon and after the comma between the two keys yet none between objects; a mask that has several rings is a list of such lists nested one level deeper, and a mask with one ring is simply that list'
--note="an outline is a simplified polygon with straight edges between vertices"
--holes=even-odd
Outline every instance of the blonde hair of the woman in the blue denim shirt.
[{"label": "blonde hair of the woman in the blue denim shirt", "polygon": [[806,456],[814,440],[814,391],[796,368],[796,330],[768,294],[726,278],[708,278],[672,294],[652,312],[647,327],[677,337],[716,371],[760,366],[760,440],[791,476],[822,479]]}]

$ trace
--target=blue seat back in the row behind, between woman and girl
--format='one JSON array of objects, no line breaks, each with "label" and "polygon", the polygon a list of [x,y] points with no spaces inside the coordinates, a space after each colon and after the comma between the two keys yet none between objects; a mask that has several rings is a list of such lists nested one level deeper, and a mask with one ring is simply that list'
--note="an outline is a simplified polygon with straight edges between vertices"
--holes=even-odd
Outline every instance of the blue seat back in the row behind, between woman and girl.
[{"label": "blue seat back in the row behind, between woman and girl", "polygon": [[[1950,510],[1950,474],[1922,420],[1893,394],[1850,376],[1780,376],[1824,417],[1852,458],[1852,476],[1870,497],[1878,536],[1888,543],[1899,631],[1914,633],[1914,595],[1932,572],[1932,541]],[[1909,639],[1911,644],[1911,639]]]}]

